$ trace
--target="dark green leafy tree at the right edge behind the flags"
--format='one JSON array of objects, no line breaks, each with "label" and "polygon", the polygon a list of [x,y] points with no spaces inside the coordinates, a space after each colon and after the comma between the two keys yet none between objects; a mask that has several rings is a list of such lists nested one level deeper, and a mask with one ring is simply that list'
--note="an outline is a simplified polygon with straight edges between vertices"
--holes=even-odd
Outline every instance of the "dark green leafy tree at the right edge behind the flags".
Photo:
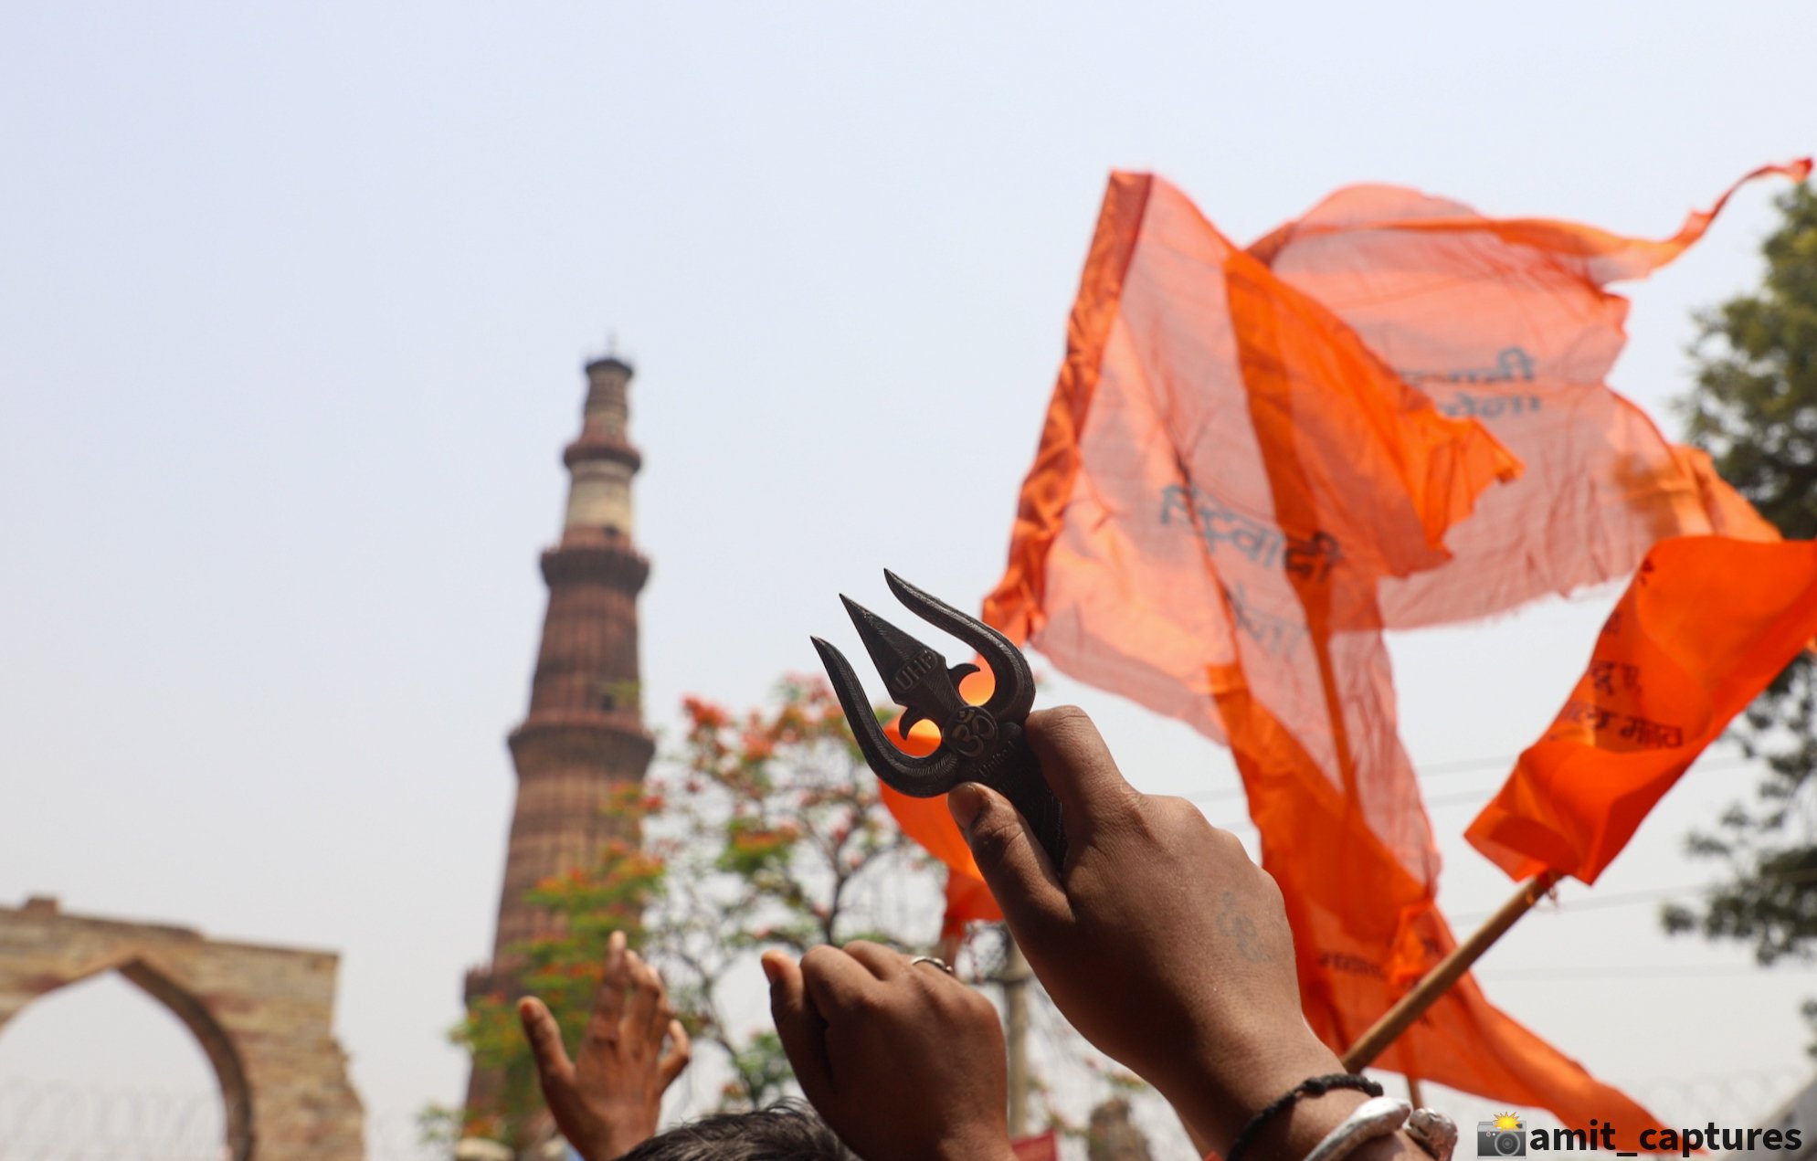
[{"label": "dark green leafy tree at the right edge behind the flags", "polygon": [[[1690,440],[1788,538],[1817,536],[1817,194],[1779,198],[1759,291],[1699,316]],[[1666,930],[1750,943],[1761,963],[1817,952],[1817,667],[1801,654],[1737,719],[1732,738],[1766,769],[1690,850],[1730,876]],[[1817,1003],[1806,1005],[1817,1016]],[[1817,1052],[1817,1048],[1813,1048]]]}]

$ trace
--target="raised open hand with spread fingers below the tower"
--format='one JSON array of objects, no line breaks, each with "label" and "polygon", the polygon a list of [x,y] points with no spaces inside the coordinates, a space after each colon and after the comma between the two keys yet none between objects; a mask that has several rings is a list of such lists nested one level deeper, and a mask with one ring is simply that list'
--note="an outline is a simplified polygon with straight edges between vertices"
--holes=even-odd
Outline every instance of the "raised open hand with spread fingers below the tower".
[{"label": "raised open hand with spread fingers below the tower", "polygon": [[605,974],[572,1061],[543,1001],[525,996],[518,1001],[518,1019],[531,1041],[543,1101],[581,1157],[611,1161],[656,1132],[663,1090],[681,1076],[690,1047],[661,976],[625,948],[625,932],[612,932],[607,943]]}]

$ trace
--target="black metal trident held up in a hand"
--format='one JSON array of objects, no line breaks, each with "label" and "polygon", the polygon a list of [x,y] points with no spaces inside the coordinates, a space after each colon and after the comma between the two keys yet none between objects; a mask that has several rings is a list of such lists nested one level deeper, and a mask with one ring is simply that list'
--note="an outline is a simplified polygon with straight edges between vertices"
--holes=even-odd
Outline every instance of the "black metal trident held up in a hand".
[{"label": "black metal trident held up in a hand", "polygon": [[996,689],[983,705],[959,696],[959,680],[978,672],[972,663],[947,665],[947,658],[890,625],[858,601],[841,596],[845,610],[865,641],[865,650],[883,674],[890,698],[903,707],[898,729],[903,736],[918,721],[939,729],[939,747],[923,758],[896,749],[883,734],[852,663],[827,641],[814,638],[814,649],[839,696],[845,719],[852,725],[858,749],[878,778],[912,798],[945,794],[961,781],[976,781],[1008,798],[1059,868],[1067,856],[1067,832],[1059,818],[1059,799],[1048,790],[1041,767],[1028,749],[1023,721],[1034,705],[1034,674],[1016,645],[978,618],[947,601],[921,592],[889,569],[883,578],[903,605],[936,629],[945,629],[970,645],[990,665]]}]

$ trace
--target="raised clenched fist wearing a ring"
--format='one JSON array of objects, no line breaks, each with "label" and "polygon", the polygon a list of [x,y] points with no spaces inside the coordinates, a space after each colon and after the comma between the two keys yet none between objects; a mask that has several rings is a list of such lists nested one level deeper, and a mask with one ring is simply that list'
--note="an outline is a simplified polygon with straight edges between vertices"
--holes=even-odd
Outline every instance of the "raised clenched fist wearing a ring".
[{"label": "raised clenched fist wearing a ring", "polygon": [[865,1161],[1005,1161],[1003,1028],[978,990],[878,943],[763,954],[801,1092]]}]

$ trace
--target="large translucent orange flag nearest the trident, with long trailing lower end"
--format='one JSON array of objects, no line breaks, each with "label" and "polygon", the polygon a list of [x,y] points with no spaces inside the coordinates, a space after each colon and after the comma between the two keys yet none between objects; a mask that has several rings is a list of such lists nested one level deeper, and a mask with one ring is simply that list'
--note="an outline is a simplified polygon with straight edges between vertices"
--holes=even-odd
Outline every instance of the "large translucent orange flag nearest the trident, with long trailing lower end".
[{"label": "large translucent orange flag nearest the trident, with long trailing lower end", "polygon": [[[1452,948],[1375,592],[1443,567],[1514,472],[1176,189],[1112,178],[985,618],[1230,741],[1306,1017],[1339,1050]],[[1468,977],[1381,1065],[1599,1117],[1619,1148],[1652,1123]]]}]

